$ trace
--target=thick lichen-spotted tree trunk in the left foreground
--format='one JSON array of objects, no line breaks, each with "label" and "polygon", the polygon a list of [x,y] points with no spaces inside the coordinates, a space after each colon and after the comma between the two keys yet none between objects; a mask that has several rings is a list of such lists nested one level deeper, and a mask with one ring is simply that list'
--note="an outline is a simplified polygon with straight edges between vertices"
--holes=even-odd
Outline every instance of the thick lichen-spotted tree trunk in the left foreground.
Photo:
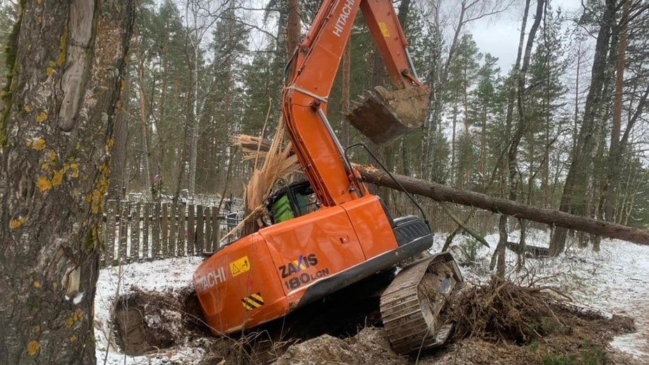
[{"label": "thick lichen-spotted tree trunk in the left foreground", "polygon": [[20,1],[0,113],[0,363],[94,364],[93,301],[133,1]]}]

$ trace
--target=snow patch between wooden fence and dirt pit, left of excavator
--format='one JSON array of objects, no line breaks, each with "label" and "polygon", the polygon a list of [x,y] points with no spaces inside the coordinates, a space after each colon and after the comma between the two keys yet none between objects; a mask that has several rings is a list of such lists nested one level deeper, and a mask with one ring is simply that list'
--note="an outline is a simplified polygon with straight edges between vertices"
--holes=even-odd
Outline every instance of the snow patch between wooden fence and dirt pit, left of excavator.
[{"label": "snow patch between wooden fence and dirt pit, left of excavator", "polygon": [[[110,313],[114,299],[133,290],[165,292],[191,285],[191,278],[203,258],[170,258],[154,262],[109,267],[99,272],[95,296],[95,339],[97,364],[158,364],[171,360],[164,355],[126,356],[115,345]],[[110,345],[109,345],[110,343]],[[175,357],[195,357],[195,350],[177,352]],[[105,361],[104,361],[105,360]]]}]

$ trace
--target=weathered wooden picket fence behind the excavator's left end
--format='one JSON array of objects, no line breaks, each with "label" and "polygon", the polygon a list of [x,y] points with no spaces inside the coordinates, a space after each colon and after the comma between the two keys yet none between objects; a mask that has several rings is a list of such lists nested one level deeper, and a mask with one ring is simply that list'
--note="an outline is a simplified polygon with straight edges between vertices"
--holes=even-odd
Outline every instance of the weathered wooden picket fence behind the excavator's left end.
[{"label": "weathered wooden picket fence behind the excavator's left end", "polygon": [[217,207],[108,200],[102,265],[213,253],[237,223]]}]

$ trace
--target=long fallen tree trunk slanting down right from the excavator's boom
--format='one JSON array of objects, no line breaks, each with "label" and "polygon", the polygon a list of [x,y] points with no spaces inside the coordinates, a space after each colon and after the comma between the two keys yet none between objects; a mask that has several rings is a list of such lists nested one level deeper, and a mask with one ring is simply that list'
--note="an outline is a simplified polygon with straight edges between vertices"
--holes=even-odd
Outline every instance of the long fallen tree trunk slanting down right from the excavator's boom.
[{"label": "long fallen tree trunk slanting down right from the excavator's boom", "polygon": [[[365,181],[400,190],[398,184],[390,179],[388,174],[374,167],[355,165]],[[494,198],[491,195],[465,191],[450,186],[437,184],[400,174],[393,174],[395,179],[403,185],[408,193],[422,195],[440,202],[453,202],[486,209],[498,214],[507,214],[516,218],[528,219],[549,225],[559,225],[571,230],[579,230],[590,234],[597,234],[609,238],[632,241],[636,244],[649,246],[649,232],[638,228],[627,227],[616,223],[598,221],[597,219],[575,216],[562,211],[532,207],[512,200]]]}]

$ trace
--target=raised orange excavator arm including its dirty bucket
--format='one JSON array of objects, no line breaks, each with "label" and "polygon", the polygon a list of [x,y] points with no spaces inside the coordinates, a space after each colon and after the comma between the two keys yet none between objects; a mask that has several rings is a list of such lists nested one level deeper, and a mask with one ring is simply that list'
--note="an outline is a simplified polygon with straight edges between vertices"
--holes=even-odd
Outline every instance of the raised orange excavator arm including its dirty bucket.
[{"label": "raised orange excavator arm including its dirty bucket", "polygon": [[[282,108],[299,161],[326,207],[367,193],[326,117],[331,86],[359,9],[396,91],[371,93],[348,119],[371,139],[378,137],[375,142],[389,142],[421,126],[425,118],[428,89],[416,77],[391,1],[325,0],[291,59]],[[419,116],[413,117],[413,112]]]}]

